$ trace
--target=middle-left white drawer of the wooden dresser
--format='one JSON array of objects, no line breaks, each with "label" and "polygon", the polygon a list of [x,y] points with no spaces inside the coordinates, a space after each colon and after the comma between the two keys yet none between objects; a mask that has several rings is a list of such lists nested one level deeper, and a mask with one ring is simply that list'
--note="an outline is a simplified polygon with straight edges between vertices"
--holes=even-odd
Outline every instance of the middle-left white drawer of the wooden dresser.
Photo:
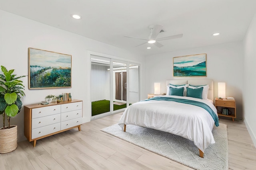
[{"label": "middle-left white drawer of the wooden dresser", "polygon": [[38,127],[43,127],[47,125],[51,125],[54,123],[59,123],[60,122],[60,113],[55,114],[55,115],[50,115],[50,116],[44,116],[44,117],[38,117],[36,119],[32,119],[32,125],[31,128],[35,129]]}]

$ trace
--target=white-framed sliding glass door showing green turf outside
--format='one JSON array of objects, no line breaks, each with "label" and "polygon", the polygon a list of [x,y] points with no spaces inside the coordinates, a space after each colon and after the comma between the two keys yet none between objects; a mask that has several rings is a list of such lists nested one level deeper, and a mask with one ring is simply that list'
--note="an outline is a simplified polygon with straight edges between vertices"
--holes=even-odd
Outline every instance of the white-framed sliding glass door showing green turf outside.
[{"label": "white-framed sliding glass door showing green turf outside", "polygon": [[138,102],[139,75],[138,64],[91,55],[92,117],[124,111]]}]

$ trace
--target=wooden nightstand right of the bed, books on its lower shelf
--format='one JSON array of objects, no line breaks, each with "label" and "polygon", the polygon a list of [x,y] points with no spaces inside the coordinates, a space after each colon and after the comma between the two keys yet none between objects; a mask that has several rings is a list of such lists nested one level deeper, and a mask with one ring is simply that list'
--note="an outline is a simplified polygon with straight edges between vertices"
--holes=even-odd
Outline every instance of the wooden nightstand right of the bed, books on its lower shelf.
[{"label": "wooden nightstand right of the bed, books on its lower shelf", "polygon": [[[236,118],[236,101],[235,100],[227,100],[227,99],[215,99],[215,107],[218,111],[218,116],[231,117],[232,120]],[[221,110],[218,109],[221,107]],[[229,113],[230,110],[231,114]],[[223,113],[223,114],[222,114]]]}]

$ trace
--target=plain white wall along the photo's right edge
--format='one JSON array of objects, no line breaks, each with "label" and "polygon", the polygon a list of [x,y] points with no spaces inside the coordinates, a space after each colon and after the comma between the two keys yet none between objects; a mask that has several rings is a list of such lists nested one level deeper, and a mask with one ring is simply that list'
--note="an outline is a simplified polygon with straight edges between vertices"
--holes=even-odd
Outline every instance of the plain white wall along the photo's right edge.
[{"label": "plain white wall along the photo's right edge", "polygon": [[256,14],[244,37],[244,122],[256,146]]}]

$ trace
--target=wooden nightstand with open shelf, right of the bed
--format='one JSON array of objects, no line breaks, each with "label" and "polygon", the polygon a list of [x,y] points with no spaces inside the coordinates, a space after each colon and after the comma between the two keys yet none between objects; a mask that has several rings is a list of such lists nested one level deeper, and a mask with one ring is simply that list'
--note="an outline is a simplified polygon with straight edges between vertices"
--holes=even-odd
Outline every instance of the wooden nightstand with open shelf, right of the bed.
[{"label": "wooden nightstand with open shelf, right of the bed", "polygon": [[232,114],[231,115],[223,115],[220,111],[218,111],[218,116],[223,117],[231,117],[234,121],[234,118],[236,118],[236,100],[227,100],[227,99],[215,99],[215,107],[218,111],[218,107],[221,108],[228,108]]}]

